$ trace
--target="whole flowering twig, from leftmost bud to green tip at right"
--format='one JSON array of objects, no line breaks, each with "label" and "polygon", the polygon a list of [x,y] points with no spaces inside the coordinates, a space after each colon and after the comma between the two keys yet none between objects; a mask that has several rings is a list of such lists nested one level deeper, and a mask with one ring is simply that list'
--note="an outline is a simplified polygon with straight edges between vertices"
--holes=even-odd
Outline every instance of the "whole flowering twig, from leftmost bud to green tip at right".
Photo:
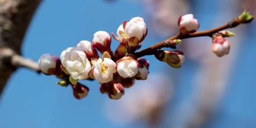
[{"label": "whole flowering twig, from leftmost bud to green tip at right", "polygon": [[[176,45],[182,43],[181,39],[199,36],[213,38],[211,50],[218,57],[222,57],[230,50],[230,43],[224,37],[231,37],[235,34],[221,30],[235,27],[239,23],[251,22],[253,18],[252,15],[243,12],[224,27],[196,33],[199,29],[198,20],[193,14],[182,15],[178,20],[179,33],[176,36],[135,52],[140,49],[148,34],[144,19],[135,17],[128,22],[124,21],[118,27],[117,36],[112,33],[114,39],[120,42],[114,53],[110,47],[111,35],[106,31],[97,31],[93,35],[92,43],[81,41],[76,47],[68,47],[61,53],[60,59],[56,55],[43,54],[39,59],[39,68],[46,75],[55,75],[60,78],[61,81],[57,84],[61,86],[70,84],[74,97],[77,99],[86,97],[89,91],[89,88],[79,83],[78,80],[96,79],[100,84],[101,93],[106,93],[110,99],[118,100],[125,94],[124,87],[133,86],[135,79],[148,78],[149,61],[140,57],[154,54],[159,61],[173,68],[180,68],[185,61],[184,53],[179,50],[161,50],[162,47],[176,49]],[[102,54],[101,58],[97,50]]]}]

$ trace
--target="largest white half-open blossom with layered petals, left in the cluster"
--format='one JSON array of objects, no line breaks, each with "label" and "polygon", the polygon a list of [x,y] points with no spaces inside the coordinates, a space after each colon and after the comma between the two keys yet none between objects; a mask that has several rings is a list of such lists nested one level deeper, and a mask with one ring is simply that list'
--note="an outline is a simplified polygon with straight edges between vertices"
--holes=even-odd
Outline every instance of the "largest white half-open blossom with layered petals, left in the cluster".
[{"label": "largest white half-open blossom with layered petals, left in the cluster", "polygon": [[61,63],[73,79],[87,79],[89,77],[90,61],[86,58],[86,54],[76,47],[69,47],[61,53]]}]

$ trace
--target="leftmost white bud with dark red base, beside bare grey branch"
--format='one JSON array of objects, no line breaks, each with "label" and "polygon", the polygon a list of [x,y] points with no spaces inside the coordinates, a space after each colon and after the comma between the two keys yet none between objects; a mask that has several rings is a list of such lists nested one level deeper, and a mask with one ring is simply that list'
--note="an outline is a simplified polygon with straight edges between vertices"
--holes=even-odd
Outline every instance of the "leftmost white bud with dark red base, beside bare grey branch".
[{"label": "leftmost white bud with dark red base, beside bare grey branch", "polygon": [[41,71],[46,75],[57,74],[61,70],[61,61],[56,55],[43,54],[38,64]]}]

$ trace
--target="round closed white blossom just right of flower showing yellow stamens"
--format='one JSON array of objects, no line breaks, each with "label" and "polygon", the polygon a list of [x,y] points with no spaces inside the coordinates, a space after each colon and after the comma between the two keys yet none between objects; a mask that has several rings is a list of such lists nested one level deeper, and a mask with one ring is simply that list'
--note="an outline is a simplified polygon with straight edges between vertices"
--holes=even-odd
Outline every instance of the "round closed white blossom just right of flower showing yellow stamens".
[{"label": "round closed white blossom just right of flower showing yellow stamens", "polygon": [[127,56],[123,57],[118,63],[116,63],[116,69],[118,74],[123,78],[131,78],[138,73],[138,67],[140,64],[137,60]]}]

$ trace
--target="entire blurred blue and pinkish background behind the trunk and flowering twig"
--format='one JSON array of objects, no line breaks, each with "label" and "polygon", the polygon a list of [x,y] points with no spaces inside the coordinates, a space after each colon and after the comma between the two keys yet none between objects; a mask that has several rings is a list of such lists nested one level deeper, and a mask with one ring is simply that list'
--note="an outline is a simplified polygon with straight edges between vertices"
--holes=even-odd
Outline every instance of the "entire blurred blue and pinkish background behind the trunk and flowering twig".
[{"label": "entire blurred blue and pinkish background behind the trunk and flowering twig", "polygon": [[[224,25],[244,10],[256,15],[255,0],[96,0],[42,1],[23,43],[24,57],[60,56],[98,30],[116,34],[123,21],[142,17],[148,35],[142,48],[178,31],[180,15],[193,13],[201,30]],[[229,29],[231,50],[222,58],[211,52],[211,38],[184,39],[181,68],[153,55],[149,77],[125,89],[120,100],[99,91],[97,81],[81,81],[89,95],[77,100],[55,76],[20,68],[0,98],[0,127],[256,127],[256,23]],[[112,38],[112,51],[119,42]],[[165,49],[170,50],[170,49]]]}]

